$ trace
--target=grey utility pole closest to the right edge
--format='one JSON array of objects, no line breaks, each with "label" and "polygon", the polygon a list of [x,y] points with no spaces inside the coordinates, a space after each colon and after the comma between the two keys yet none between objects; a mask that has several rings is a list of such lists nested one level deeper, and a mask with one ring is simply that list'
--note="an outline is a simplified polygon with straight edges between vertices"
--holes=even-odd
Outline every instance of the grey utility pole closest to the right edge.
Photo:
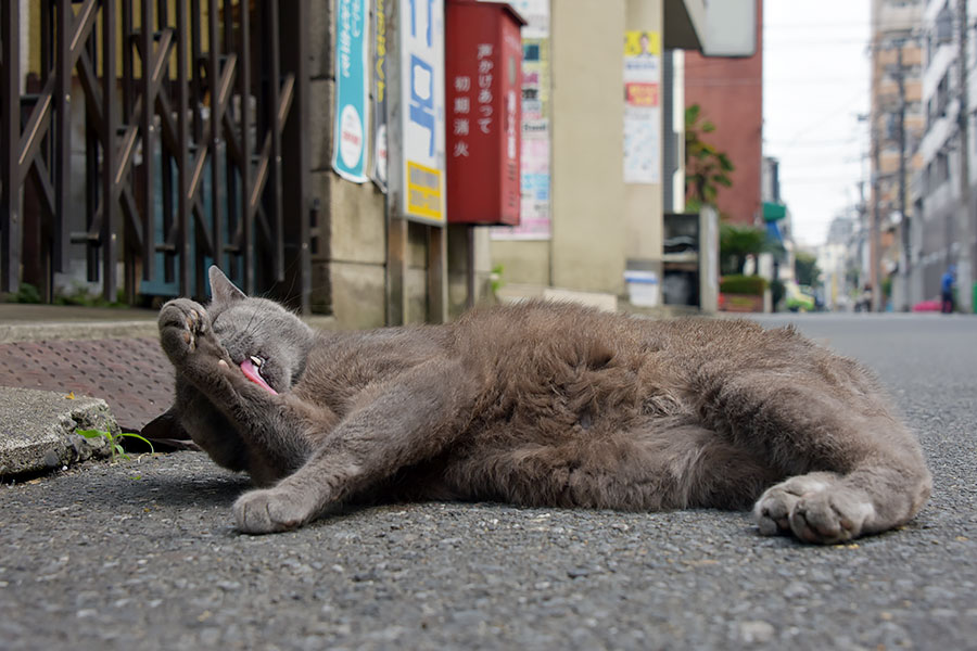
[{"label": "grey utility pole closest to the right edge", "polygon": [[959,243],[960,252],[956,255],[956,280],[960,307],[965,314],[974,311],[973,284],[974,272],[970,263],[970,245],[973,235],[970,229],[970,104],[968,94],[967,74],[967,0],[956,2],[956,23],[960,29],[956,62],[960,67],[960,112],[957,122],[960,128],[960,224]]}]

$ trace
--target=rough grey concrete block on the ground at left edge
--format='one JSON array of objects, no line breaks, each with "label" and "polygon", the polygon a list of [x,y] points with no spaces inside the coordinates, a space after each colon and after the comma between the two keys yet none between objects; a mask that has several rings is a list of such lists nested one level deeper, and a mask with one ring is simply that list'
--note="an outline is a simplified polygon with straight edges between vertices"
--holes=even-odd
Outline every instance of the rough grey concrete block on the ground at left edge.
[{"label": "rough grey concrete block on the ground at left edge", "polygon": [[0,477],[47,472],[91,457],[111,455],[104,438],[78,430],[118,433],[101,398],[0,386]]}]

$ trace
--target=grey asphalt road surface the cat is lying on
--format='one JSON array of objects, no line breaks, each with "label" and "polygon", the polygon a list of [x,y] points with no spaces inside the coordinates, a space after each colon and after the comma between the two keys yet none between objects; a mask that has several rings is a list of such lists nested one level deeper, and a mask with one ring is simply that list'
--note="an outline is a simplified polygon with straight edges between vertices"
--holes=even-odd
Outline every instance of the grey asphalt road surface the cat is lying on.
[{"label": "grey asphalt road surface the cat is lying on", "polygon": [[797,322],[919,432],[934,497],[903,529],[424,503],[250,537],[246,482],[200,455],[89,462],[0,487],[0,649],[977,649],[977,318]]}]

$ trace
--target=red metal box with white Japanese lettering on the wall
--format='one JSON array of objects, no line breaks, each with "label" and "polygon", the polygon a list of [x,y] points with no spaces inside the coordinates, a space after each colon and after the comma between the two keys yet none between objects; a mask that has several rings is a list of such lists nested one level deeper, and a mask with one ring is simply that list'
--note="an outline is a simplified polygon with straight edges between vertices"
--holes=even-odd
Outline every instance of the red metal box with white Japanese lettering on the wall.
[{"label": "red metal box with white Japanese lettering on the wall", "polygon": [[448,0],[445,14],[448,221],[518,226],[525,21],[475,0]]}]

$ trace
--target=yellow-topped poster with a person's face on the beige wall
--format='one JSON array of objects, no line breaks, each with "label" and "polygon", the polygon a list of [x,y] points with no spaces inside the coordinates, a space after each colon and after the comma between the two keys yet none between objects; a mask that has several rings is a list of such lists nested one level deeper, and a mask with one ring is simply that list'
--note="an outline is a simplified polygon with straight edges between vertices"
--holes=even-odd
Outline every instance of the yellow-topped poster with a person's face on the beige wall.
[{"label": "yellow-topped poster with a person's face on the beige wall", "polygon": [[661,34],[624,33],[624,182],[661,182]]}]

